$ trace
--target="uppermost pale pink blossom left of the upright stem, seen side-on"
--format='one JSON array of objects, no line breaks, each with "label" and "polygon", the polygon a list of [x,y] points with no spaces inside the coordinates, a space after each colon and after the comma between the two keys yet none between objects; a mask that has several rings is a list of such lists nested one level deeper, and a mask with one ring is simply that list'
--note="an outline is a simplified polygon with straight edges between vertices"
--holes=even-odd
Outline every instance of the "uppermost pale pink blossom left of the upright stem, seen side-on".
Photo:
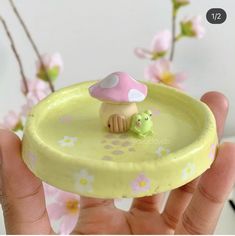
[{"label": "uppermost pale pink blossom left of the upright stem, seen side-on", "polygon": [[163,30],[156,34],[151,43],[151,49],[136,48],[135,54],[139,58],[157,59],[165,55],[171,46],[171,32]]}]

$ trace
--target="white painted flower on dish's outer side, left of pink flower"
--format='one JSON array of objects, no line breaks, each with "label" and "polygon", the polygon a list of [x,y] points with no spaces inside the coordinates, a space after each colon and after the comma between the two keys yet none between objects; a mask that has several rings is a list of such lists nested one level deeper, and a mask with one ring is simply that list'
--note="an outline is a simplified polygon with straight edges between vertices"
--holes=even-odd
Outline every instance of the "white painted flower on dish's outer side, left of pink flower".
[{"label": "white painted flower on dish's outer side, left of pink flower", "polygon": [[93,191],[94,176],[90,175],[87,170],[83,169],[76,175],[76,187],[79,192]]}]

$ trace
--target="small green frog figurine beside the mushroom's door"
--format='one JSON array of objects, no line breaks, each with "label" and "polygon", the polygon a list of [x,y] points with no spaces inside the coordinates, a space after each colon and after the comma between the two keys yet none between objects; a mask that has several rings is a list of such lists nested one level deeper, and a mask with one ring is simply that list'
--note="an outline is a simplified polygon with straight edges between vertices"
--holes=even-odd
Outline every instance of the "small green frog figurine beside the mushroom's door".
[{"label": "small green frog figurine beside the mushroom's door", "polygon": [[130,130],[140,138],[153,134],[152,112],[147,110],[133,115]]}]

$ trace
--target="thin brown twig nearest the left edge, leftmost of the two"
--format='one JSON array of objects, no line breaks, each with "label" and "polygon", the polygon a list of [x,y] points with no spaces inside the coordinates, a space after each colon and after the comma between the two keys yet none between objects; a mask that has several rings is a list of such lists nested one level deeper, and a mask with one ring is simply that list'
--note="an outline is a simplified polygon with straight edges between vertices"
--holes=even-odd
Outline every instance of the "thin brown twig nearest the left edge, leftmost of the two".
[{"label": "thin brown twig nearest the left edge, leftmost of the two", "polygon": [[3,27],[4,27],[4,30],[7,34],[7,37],[10,41],[10,44],[11,44],[11,48],[12,48],[12,51],[13,53],[15,54],[15,57],[16,57],[16,60],[19,64],[19,68],[20,68],[20,74],[21,74],[21,77],[22,77],[22,80],[23,80],[23,83],[24,83],[24,87],[25,87],[25,94],[27,94],[29,92],[29,89],[28,89],[28,84],[27,84],[27,80],[26,80],[26,77],[25,77],[25,73],[24,73],[24,68],[23,68],[23,64],[22,64],[22,61],[21,61],[21,58],[16,50],[16,46],[15,46],[15,43],[14,43],[14,40],[11,36],[11,33],[8,29],[8,26],[6,24],[6,21],[0,16],[0,21],[2,22],[3,24]]}]

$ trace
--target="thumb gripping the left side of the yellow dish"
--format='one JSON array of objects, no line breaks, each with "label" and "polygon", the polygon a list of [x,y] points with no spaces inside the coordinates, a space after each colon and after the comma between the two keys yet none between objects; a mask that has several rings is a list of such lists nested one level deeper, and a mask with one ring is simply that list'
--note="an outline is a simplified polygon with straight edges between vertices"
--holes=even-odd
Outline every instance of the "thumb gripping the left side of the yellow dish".
[{"label": "thumb gripping the left side of the yellow dish", "polygon": [[7,234],[52,232],[45,207],[43,187],[21,159],[21,142],[0,130],[2,208]]}]

